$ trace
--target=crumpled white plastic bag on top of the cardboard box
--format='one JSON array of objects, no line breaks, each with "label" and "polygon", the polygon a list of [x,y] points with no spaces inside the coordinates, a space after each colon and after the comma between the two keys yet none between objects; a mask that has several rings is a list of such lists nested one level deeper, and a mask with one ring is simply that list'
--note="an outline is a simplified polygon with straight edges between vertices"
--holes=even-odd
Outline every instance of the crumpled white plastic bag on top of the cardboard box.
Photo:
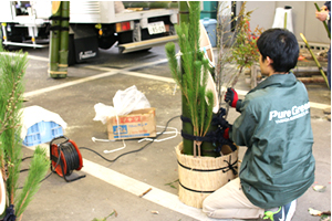
[{"label": "crumpled white plastic bag on top of the cardboard box", "polygon": [[151,107],[145,95],[135,85],[125,91],[118,90],[113,97],[113,105],[114,107],[102,103],[94,105],[96,115],[93,120],[101,120],[103,124],[106,124],[107,118],[113,116],[127,115],[133,110]]}]

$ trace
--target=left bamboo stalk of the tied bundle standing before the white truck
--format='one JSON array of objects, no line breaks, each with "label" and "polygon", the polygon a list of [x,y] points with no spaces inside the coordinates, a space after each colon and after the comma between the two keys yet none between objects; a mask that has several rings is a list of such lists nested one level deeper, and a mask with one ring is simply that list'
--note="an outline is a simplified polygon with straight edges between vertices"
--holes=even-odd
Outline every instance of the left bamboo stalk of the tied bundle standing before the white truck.
[{"label": "left bamboo stalk of the tied bundle standing before the white truck", "polygon": [[[52,2],[52,15],[60,17],[61,15],[61,2],[53,1]],[[60,27],[60,20],[52,20],[52,27]],[[50,66],[49,74],[51,77],[59,77],[59,45],[60,45],[60,31],[52,30],[50,32]]]}]

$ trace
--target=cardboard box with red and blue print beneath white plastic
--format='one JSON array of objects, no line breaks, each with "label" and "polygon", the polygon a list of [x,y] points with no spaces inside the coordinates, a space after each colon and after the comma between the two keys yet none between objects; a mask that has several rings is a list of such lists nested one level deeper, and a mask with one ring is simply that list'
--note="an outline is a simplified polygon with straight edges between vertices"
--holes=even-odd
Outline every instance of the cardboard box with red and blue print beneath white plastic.
[{"label": "cardboard box with red and blue print beneath white plastic", "polygon": [[108,139],[133,139],[156,136],[156,108],[145,108],[107,120]]}]

